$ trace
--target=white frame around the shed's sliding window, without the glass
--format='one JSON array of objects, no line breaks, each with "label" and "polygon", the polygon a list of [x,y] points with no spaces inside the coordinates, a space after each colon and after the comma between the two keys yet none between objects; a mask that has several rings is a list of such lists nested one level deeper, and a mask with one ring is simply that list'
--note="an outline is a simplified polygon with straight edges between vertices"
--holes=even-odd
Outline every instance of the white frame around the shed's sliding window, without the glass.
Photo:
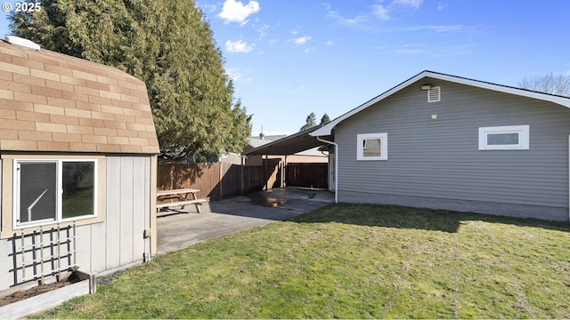
[{"label": "white frame around the shed's sliding window, without the glass", "polygon": [[[62,168],[64,163],[69,162],[81,162],[81,163],[93,163],[94,164],[94,210],[93,214],[85,214],[82,216],[66,218],[62,217],[62,204],[63,204],[63,179],[62,179]],[[27,221],[27,222],[19,222],[20,220],[20,171],[18,170],[19,164],[22,163],[55,163],[56,164],[56,178],[57,178],[57,189],[60,192],[56,195],[56,214],[55,219],[46,219],[46,220],[35,220],[35,221]],[[99,179],[98,179],[98,161],[94,158],[17,158],[13,160],[13,210],[12,210],[12,228],[13,229],[20,229],[20,228],[30,228],[30,227],[37,227],[46,224],[53,224],[53,223],[60,223],[60,222],[67,222],[67,221],[74,221],[74,220],[85,220],[85,219],[93,219],[97,217],[97,212],[99,210],[98,206],[98,199],[99,199]]]}]

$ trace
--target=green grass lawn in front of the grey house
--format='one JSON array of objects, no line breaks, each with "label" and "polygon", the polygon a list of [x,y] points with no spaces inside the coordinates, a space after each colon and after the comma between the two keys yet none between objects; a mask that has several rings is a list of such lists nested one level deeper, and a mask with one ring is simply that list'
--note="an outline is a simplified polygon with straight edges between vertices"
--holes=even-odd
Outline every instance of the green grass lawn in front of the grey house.
[{"label": "green grass lawn in front of the grey house", "polygon": [[40,318],[568,318],[570,226],[334,204],[127,269]]}]

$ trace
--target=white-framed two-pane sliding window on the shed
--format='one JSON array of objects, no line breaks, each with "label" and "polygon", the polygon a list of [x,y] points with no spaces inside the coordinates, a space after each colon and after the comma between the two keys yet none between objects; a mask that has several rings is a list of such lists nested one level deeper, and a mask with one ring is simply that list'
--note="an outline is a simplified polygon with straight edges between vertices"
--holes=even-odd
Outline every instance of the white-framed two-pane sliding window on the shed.
[{"label": "white-framed two-pane sliding window on the shed", "polygon": [[14,160],[14,228],[93,218],[95,160]]}]

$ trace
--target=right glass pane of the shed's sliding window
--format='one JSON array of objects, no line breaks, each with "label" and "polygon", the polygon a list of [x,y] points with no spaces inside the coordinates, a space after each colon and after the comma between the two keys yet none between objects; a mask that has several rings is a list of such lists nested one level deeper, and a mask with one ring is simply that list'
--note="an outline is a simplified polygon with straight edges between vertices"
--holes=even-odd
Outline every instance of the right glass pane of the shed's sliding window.
[{"label": "right glass pane of the shed's sliding window", "polygon": [[63,219],[94,214],[93,162],[64,162],[62,164]]}]

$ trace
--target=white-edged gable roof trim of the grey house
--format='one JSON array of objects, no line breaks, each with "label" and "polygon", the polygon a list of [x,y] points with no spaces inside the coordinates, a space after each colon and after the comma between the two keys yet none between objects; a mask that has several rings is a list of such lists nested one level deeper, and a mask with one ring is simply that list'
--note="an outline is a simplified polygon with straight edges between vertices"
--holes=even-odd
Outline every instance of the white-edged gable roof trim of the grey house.
[{"label": "white-edged gable roof trim of the grey house", "polygon": [[[493,90],[496,92],[505,92],[505,93],[510,93],[510,94],[516,94],[518,96],[523,96],[523,97],[528,97],[528,98],[533,98],[533,99],[538,99],[538,100],[546,100],[546,101],[550,101],[550,102],[556,103],[558,105],[564,106],[566,108],[570,108],[570,98],[567,98],[567,97],[562,97],[562,96],[548,94],[548,93],[542,93],[542,92],[533,92],[530,90],[510,87],[507,85],[492,84],[492,83],[488,83],[488,82],[484,82],[484,81],[477,81],[477,80],[468,79],[468,78],[460,77],[460,76],[444,75],[442,73],[437,73],[437,72],[427,70],[427,71],[423,71],[423,72],[419,73],[416,76],[412,76],[410,79],[404,81],[402,84],[396,85],[394,88],[388,90],[387,92],[380,94],[378,97],[376,97],[372,100],[369,100],[368,102],[365,102],[361,106],[346,112],[346,114],[344,114],[342,116],[338,116],[338,118],[332,120],[329,124],[323,125],[321,128],[319,128],[319,129],[317,129],[314,132],[311,132],[309,134],[314,136],[314,137],[329,136],[332,133],[332,130],[334,129],[334,127],[337,124],[339,124],[340,122],[342,122],[343,120],[345,120],[346,118],[348,118],[350,116],[354,116],[355,114],[361,112],[363,109],[371,107],[372,105],[376,104],[380,100],[384,100],[387,97],[394,94],[395,92],[399,92],[403,88],[406,88],[411,84],[415,84],[415,83],[419,82],[420,80],[425,79],[426,84],[429,84],[428,80],[430,78],[436,79],[436,80],[449,81],[449,82],[456,83],[456,84],[466,84],[466,85],[470,85],[470,86],[474,86],[474,87],[478,87],[478,88],[482,88],[482,89]],[[424,84],[424,83],[422,82],[421,84]]]}]

